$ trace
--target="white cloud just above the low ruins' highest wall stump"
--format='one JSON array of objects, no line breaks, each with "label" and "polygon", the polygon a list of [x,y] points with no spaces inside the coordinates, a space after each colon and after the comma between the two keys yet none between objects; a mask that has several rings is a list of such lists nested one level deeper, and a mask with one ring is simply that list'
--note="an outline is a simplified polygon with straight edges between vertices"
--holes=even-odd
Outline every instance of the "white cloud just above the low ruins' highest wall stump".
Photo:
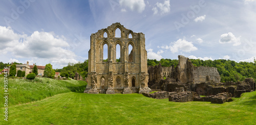
[{"label": "white cloud just above the low ruins' highest wall stump", "polygon": [[170,49],[170,52],[172,53],[178,53],[179,51],[188,53],[191,51],[196,51],[198,49],[196,46],[193,45],[192,42],[188,42],[185,39],[178,39],[177,41],[170,43],[169,46],[164,45],[161,46],[161,48]]}]

